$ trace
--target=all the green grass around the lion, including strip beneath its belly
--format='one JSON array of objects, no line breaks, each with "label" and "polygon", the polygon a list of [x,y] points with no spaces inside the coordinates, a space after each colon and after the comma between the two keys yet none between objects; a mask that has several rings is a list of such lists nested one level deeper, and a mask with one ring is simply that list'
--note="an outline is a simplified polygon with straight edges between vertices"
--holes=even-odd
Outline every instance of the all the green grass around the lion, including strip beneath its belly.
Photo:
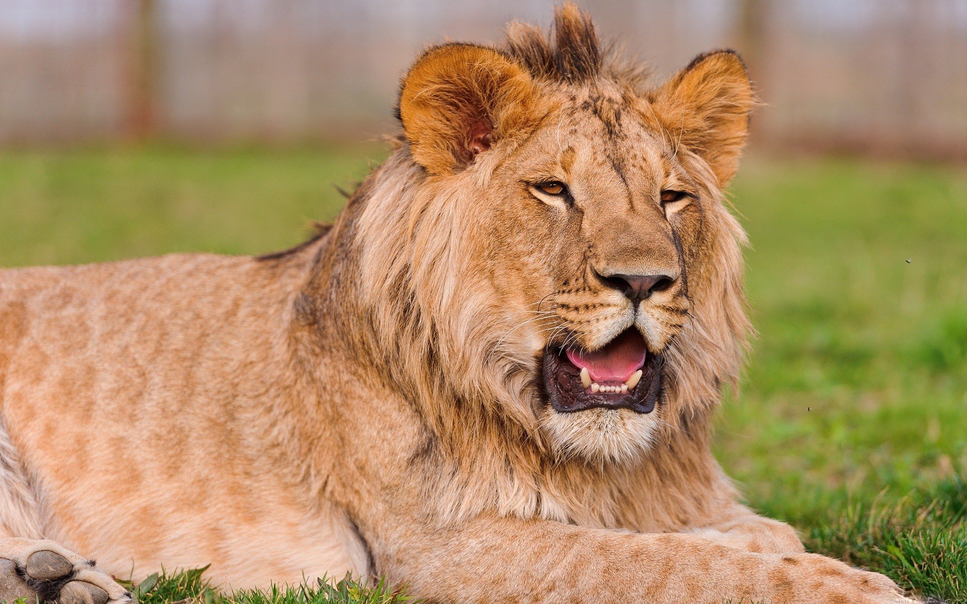
[{"label": "all the green grass around the lion, including strip beneath its belly", "polygon": [[[5,152],[0,266],[282,248],[381,155]],[[718,458],[810,550],[967,603],[967,170],[750,158],[732,190],[760,336]],[[352,583],[218,594],[203,577],[161,576],[139,599],[402,601]]]}]

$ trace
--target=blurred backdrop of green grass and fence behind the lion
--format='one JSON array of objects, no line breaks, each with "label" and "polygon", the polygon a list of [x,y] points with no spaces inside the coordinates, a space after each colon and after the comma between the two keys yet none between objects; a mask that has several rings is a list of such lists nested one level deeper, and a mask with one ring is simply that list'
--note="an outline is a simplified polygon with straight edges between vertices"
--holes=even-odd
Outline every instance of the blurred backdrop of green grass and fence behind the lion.
[{"label": "blurred backdrop of green grass and fence behind the lion", "polygon": [[[579,4],[658,79],[738,48],[766,103],[730,187],[759,337],[723,467],[810,549],[967,603],[967,0]],[[297,244],[385,158],[426,44],[552,12],[0,0],[0,267]]]}]

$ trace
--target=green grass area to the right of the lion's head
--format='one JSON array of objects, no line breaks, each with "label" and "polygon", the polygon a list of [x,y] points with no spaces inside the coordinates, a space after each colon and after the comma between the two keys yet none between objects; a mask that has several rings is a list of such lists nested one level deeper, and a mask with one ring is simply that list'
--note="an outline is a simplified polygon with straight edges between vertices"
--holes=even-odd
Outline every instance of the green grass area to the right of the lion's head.
[{"label": "green grass area to the right of the lion's head", "polygon": [[749,162],[760,332],[717,451],[813,551],[967,602],[967,171]]}]

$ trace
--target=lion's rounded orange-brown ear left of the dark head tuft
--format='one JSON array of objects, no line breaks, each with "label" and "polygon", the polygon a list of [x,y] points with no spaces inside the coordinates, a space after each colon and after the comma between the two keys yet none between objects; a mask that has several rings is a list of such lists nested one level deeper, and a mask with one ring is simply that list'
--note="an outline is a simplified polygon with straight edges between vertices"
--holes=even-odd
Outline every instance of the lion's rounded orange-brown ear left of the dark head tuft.
[{"label": "lion's rounded orange-brown ear left of the dark head tuft", "polygon": [[413,158],[450,174],[526,125],[536,97],[531,76],[500,52],[449,43],[427,50],[403,78],[398,115]]}]

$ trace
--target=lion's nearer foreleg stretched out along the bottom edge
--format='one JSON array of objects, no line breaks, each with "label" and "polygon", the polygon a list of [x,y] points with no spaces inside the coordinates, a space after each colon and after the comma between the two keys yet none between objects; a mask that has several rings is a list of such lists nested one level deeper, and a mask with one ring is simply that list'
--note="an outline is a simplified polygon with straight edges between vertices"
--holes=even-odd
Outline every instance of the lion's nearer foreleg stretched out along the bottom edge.
[{"label": "lion's nearer foreleg stretched out along the bottom edge", "polygon": [[883,575],[815,554],[755,554],[687,533],[630,533],[479,518],[410,525],[374,550],[416,597],[475,602],[889,604],[910,602]]}]

